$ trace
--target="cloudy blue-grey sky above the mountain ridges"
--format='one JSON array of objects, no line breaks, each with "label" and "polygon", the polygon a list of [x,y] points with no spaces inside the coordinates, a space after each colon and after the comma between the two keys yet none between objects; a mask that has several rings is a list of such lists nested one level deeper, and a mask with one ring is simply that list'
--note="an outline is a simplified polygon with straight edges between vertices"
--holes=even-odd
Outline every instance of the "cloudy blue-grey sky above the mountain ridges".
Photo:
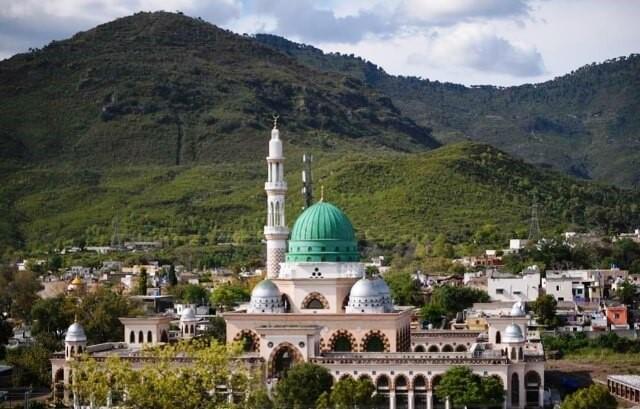
[{"label": "cloudy blue-grey sky above the mountain ridges", "polygon": [[0,0],[0,59],[155,10],[465,85],[542,82],[640,52],[640,0]]}]

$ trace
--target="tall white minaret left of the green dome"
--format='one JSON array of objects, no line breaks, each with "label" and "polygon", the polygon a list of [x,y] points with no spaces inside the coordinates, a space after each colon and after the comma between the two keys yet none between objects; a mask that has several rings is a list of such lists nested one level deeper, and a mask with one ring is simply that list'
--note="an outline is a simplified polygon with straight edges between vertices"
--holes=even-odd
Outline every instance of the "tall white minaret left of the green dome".
[{"label": "tall white minaret left of the green dome", "polygon": [[276,278],[280,271],[280,263],[284,262],[289,237],[289,229],[284,218],[287,182],[284,181],[284,156],[277,116],[273,118],[267,170],[268,178],[264,184],[264,190],[267,192],[267,224],[264,226],[264,237],[267,239],[267,277]]}]

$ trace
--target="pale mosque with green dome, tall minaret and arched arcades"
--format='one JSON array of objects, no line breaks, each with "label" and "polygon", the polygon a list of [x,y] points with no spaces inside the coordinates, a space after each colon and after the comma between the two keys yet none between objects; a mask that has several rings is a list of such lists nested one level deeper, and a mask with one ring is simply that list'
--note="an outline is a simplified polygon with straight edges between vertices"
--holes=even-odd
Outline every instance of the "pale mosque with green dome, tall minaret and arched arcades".
[{"label": "pale mosque with green dome, tall minaret and arched arcades", "polygon": [[[224,314],[227,342],[241,341],[244,359],[262,364],[267,385],[292,365],[312,362],[337,381],[369,378],[388,408],[450,408],[434,389],[452,366],[496,376],[505,388],[504,408],[541,408],[544,352],[527,336],[528,317],[517,303],[506,314],[486,317],[488,329],[412,330],[414,308],[395,305],[379,276],[367,276],[349,218],[320,200],[286,224],[282,140],[271,131],[267,193],[267,277],[246,309]],[[67,332],[65,352],[54,356],[54,385],[68,385],[69,361],[86,351],[107,356],[141,345],[168,342],[171,318],[122,318],[125,340],[111,347],[86,346],[82,327]],[[180,338],[195,336],[197,318],[186,309]],[[386,405],[385,405],[386,406]]]}]

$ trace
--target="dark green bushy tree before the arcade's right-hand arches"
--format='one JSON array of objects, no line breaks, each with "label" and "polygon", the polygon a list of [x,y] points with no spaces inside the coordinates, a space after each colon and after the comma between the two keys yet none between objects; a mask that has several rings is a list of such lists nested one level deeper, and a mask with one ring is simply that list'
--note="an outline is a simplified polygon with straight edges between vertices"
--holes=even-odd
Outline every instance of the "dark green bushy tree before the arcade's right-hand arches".
[{"label": "dark green bushy tree before the arcade's right-hand arches", "polygon": [[454,366],[442,376],[436,396],[459,406],[498,405],[504,401],[504,387],[500,378],[481,377],[466,366]]}]

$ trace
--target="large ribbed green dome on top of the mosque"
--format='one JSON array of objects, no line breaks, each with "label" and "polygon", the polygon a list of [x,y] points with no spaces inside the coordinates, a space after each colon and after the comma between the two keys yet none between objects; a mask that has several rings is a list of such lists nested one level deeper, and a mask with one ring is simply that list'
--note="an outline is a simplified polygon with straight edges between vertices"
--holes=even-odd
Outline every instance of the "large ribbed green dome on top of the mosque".
[{"label": "large ribbed green dome on top of the mosque", "polygon": [[359,261],[351,221],[331,203],[310,206],[293,225],[287,261]]}]

